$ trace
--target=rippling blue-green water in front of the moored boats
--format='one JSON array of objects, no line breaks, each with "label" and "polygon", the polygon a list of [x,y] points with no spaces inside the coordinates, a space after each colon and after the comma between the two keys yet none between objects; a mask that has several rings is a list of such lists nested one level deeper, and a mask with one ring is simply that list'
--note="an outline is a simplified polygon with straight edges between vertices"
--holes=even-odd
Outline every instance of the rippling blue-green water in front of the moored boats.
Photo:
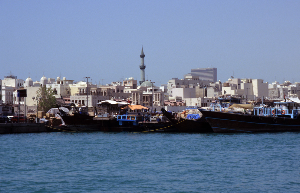
[{"label": "rippling blue-green water in front of the moored boats", "polygon": [[0,135],[0,192],[299,192],[300,132]]}]

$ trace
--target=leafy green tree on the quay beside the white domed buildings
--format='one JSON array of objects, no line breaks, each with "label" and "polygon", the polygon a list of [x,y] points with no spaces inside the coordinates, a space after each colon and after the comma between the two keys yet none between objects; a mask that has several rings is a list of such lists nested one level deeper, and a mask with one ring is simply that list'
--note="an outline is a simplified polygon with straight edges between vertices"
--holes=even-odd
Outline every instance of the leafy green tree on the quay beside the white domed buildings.
[{"label": "leafy green tree on the quay beside the white domed buildings", "polygon": [[49,109],[56,107],[55,92],[51,86],[47,88],[46,85],[40,85],[36,94],[38,97],[42,97],[41,101],[39,101],[39,111],[47,112]]}]

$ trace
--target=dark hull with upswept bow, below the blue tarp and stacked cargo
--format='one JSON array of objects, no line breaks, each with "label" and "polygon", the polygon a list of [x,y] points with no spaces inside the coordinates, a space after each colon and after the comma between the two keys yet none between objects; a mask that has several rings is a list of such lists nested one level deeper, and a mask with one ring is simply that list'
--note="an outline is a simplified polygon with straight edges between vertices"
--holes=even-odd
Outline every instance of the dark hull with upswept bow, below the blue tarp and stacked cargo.
[{"label": "dark hull with upswept bow, below the blue tarp and stacked cargo", "polygon": [[171,113],[166,111],[166,109],[161,109],[163,115],[165,115],[169,121],[177,128],[179,132],[186,133],[209,133],[213,132],[209,123],[206,122],[205,118],[199,119],[176,119]]}]

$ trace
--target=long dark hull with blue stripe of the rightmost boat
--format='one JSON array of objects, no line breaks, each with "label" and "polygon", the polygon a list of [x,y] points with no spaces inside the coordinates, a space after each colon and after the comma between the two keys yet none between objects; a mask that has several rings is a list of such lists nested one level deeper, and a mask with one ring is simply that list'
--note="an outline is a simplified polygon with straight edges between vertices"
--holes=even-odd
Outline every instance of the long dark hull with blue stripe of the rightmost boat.
[{"label": "long dark hull with blue stripe of the rightmost boat", "polygon": [[215,133],[300,131],[300,119],[199,109]]}]

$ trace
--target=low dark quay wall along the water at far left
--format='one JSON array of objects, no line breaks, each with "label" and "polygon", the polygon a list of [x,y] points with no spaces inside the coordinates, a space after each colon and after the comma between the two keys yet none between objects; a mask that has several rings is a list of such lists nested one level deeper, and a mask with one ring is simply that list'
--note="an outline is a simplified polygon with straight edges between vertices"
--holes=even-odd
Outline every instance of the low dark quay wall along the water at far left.
[{"label": "low dark quay wall along the water at far left", "polygon": [[0,123],[0,134],[52,132],[45,123]]}]

